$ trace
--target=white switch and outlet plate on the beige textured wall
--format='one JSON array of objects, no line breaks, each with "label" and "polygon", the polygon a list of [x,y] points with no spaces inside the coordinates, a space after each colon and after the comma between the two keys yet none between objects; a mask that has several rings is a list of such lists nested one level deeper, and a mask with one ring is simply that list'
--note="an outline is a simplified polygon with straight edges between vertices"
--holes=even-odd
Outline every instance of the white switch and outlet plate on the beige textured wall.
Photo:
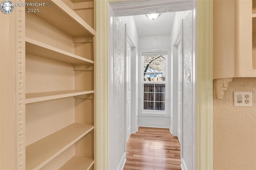
[{"label": "white switch and outlet plate on the beige textured wall", "polygon": [[251,91],[234,91],[234,106],[252,107]]}]

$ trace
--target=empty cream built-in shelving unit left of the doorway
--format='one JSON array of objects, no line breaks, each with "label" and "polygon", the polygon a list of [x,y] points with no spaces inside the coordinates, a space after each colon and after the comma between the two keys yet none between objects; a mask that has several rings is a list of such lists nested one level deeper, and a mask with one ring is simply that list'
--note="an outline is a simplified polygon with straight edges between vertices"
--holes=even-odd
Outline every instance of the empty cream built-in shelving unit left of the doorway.
[{"label": "empty cream built-in shelving unit left of the doorway", "polygon": [[27,170],[94,169],[94,4],[26,7]]}]

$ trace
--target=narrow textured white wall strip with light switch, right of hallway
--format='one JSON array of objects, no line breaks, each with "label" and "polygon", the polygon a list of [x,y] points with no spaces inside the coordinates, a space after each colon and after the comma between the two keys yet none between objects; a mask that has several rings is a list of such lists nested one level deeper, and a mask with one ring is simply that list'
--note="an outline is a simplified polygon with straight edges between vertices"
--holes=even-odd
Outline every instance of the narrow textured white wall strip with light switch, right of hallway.
[{"label": "narrow textured white wall strip with light switch, right of hallway", "polygon": [[192,75],[193,33],[192,10],[183,13],[183,160],[188,170],[192,169],[192,83],[188,83],[188,73]]}]

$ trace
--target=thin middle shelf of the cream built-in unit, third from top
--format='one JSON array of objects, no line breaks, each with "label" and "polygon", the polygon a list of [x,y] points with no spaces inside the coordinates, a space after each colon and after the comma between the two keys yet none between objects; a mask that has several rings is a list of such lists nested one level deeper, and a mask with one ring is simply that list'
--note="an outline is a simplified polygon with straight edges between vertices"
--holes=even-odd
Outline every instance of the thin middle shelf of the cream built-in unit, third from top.
[{"label": "thin middle shelf of the cream built-in unit, third from top", "polygon": [[40,92],[40,93],[26,93],[25,103],[34,103],[39,101],[47,101],[52,99],[60,99],[64,97],[72,97],[78,95],[85,95],[94,93],[91,91],[84,90],[64,90],[64,91],[48,91],[48,92]]}]

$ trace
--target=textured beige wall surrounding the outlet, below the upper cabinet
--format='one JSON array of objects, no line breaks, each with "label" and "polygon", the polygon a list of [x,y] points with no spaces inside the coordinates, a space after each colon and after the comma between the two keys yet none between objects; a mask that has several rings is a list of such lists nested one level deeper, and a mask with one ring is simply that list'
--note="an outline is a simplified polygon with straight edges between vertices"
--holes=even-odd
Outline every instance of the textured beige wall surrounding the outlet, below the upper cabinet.
[{"label": "textured beige wall surrounding the outlet, below the upper cabinet", "polygon": [[[213,164],[216,170],[256,169],[256,78],[234,78],[224,99],[213,100]],[[252,91],[253,107],[234,107],[233,91]]]}]

